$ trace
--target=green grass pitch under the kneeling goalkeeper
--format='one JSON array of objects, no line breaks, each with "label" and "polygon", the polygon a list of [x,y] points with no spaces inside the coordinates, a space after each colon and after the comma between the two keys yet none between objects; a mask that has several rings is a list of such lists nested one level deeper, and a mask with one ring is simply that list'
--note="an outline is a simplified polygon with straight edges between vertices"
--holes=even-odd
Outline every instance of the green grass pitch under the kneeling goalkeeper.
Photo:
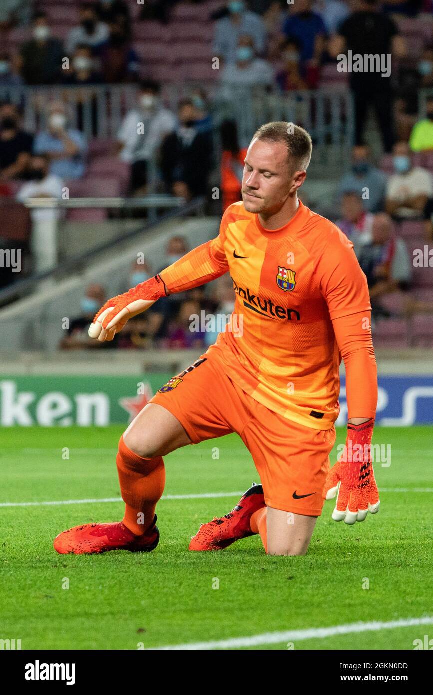
[{"label": "green grass pitch under the kneeling goalkeeper", "polygon": [[[149,555],[54,551],[54,537],[66,528],[120,520],[122,502],[4,506],[119,497],[121,433],[122,427],[3,430],[1,639],[21,639],[23,650],[147,649],[433,615],[431,428],[377,428],[374,442],[391,445],[392,454],[391,466],[375,464],[381,511],[349,528],[332,521],[334,501],[326,502],[305,557],[267,557],[259,537],[218,553],[188,552],[199,523],[227,514],[234,496],[161,500],[161,542]],[[344,437],[339,430],[338,443]],[[231,493],[259,482],[236,435],[181,449],[165,463],[171,496]],[[294,647],[411,650],[429,631],[433,637],[433,626],[314,637]]]}]

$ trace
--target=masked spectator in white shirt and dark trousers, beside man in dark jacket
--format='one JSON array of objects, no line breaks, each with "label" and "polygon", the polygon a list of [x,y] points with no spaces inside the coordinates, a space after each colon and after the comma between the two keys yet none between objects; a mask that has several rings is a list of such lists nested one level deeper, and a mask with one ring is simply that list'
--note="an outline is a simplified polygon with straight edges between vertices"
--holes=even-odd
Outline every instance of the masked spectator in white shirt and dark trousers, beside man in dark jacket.
[{"label": "masked spectator in white shirt and dark trousers, beside man in dark jacket", "polygon": [[169,133],[176,129],[174,113],[161,104],[161,86],[153,80],[143,81],[138,103],[126,114],[117,134],[117,153],[122,161],[131,164],[131,194],[146,190],[149,166]]}]

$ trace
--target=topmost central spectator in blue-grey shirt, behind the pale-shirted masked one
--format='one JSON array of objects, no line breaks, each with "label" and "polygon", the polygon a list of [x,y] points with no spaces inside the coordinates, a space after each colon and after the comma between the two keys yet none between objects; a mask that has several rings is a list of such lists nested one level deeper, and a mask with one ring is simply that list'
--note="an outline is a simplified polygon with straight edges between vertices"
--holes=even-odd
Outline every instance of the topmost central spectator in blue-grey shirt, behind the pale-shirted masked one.
[{"label": "topmost central spectator in blue-grey shirt, behind the pale-shirted masked one", "polygon": [[266,27],[263,18],[250,12],[243,0],[227,3],[228,16],[218,19],[213,37],[213,55],[227,63],[236,63],[241,36],[252,38],[256,54],[261,56],[266,48]]}]

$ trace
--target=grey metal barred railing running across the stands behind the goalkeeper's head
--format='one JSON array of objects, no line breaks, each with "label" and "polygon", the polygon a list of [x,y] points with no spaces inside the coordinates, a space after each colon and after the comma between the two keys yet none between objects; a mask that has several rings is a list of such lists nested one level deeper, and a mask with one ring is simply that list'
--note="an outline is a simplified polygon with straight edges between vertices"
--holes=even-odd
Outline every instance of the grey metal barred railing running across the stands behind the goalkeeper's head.
[{"label": "grey metal barred railing running across the stands behind the goalkeeper's head", "polygon": [[[263,123],[280,120],[294,122],[311,134],[315,146],[311,170],[343,163],[353,145],[353,99],[347,88],[281,93],[270,87],[186,81],[164,85],[163,101],[176,111],[179,99],[197,85],[209,94],[215,128],[224,118],[236,120],[242,147],[249,144]],[[36,132],[44,126],[47,104],[61,99],[69,106],[72,126],[87,138],[115,139],[126,113],[137,107],[137,90],[137,85],[131,84],[0,87],[0,100],[20,104],[24,109],[24,127]]]}]

